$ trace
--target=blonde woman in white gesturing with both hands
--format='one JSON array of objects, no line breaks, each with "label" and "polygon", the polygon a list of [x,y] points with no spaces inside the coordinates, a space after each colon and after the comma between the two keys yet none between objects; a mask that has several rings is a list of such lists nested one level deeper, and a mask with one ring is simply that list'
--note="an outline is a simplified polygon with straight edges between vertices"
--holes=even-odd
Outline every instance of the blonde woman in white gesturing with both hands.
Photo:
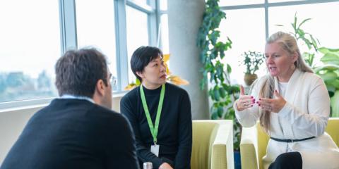
[{"label": "blonde woman in white gesturing with both hands", "polygon": [[339,168],[338,146],[325,132],[330,99],[321,77],[300,54],[292,35],[276,32],[265,46],[268,75],[251,95],[241,87],[234,109],[239,122],[260,124],[269,134],[264,168]]}]

